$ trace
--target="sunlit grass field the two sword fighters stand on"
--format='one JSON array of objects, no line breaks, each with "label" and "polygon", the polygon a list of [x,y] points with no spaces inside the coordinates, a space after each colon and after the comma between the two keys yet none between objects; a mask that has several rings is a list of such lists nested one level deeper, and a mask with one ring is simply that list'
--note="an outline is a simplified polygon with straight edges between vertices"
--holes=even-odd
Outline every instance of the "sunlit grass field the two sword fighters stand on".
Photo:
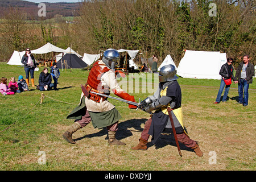
[{"label": "sunlit grass field the two sword fighters stand on", "polygon": [[[36,84],[42,69],[35,72]],[[16,81],[19,75],[25,77],[24,68],[19,66],[0,63],[0,71],[0,76],[8,80],[13,76]],[[152,77],[150,73],[146,75]],[[247,107],[236,104],[235,84],[231,85],[228,102],[216,105],[213,102],[220,80],[178,79],[183,94],[184,126],[189,137],[200,142],[204,152],[199,158],[181,144],[181,158],[172,135],[162,135],[155,145],[149,142],[147,151],[131,150],[138,144],[150,115],[130,110],[127,104],[114,100],[109,101],[122,115],[117,138],[125,146],[110,146],[106,129],[94,129],[91,123],[73,135],[77,144],[66,142],[62,134],[73,123],[66,117],[79,104],[80,85],[85,84],[87,77],[88,71],[81,69],[60,70],[58,91],[40,92],[30,86],[30,92],[0,95],[0,170],[255,170],[255,79],[249,87]],[[130,89],[142,92],[143,83],[148,81],[141,78],[139,86],[132,84],[134,80],[130,74],[129,80],[122,83],[125,85],[127,81]],[[46,97],[40,104],[42,93]],[[139,102],[139,98],[143,100],[150,93],[130,94]],[[40,163],[42,151],[46,156],[43,164]]]}]

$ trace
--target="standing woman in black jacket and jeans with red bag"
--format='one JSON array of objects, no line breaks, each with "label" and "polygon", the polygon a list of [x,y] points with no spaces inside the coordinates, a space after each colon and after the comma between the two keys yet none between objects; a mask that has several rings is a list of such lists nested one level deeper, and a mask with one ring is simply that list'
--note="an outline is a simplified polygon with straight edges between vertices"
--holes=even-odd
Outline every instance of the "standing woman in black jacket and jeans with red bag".
[{"label": "standing woman in black jacket and jeans with red bag", "polygon": [[[220,70],[221,85],[220,85],[220,89],[218,90],[216,101],[213,104],[220,103],[221,94],[226,85],[224,80],[228,80],[230,77],[232,78],[232,80],[234,80],[234,75],[233,75],[234,68],[232,66],[232,63],[233,63],[233,58],[229,57],[227,59],[226,64],[222,65],[222,67],[221,67],[221,70]],[[226,102],[226,98],[228,97],[229,89],[230,89],[230,85],[226,85],[226,88],[224,91],[224,96],[222,98],[222,102]]]}]

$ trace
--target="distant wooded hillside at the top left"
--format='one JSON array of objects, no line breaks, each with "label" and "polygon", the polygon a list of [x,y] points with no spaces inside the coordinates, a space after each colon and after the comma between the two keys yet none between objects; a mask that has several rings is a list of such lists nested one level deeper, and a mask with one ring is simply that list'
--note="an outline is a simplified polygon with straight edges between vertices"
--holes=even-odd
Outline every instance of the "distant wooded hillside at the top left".
[{"label": "distant wooded hillside at the top left", "polygon": [[[20,11],[23,11],[28,20],[38,20],[42,17],[38,16],[38,7],[39,3],[21,1],[21,0],[1,0],[0,1],[0,18],[7,13],[9,7],[18,7]],[[62,16],[76,16],[78,14],[77,10],[79,9],[79,2],[77,3],[45,3],[46,4],[46,17],[43,19],[53,18],[55,15]]]}]

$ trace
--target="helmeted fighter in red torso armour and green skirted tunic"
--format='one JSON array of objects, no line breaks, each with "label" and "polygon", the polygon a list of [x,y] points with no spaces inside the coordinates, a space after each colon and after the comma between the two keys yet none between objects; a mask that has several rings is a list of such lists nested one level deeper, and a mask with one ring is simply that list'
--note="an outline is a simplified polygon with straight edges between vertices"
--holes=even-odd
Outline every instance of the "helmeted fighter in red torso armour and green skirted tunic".
[{"label": "helmeted fighter in red torso armour and green skirted tunic", "polygon": [[[93,127],[108,129],[109,144],[124,145],[125,143],[117,140],[115,134],[118,130],[118,121],[121,118],[118,110],[111,104],[106,97],[90,93],[110,94],[110,90],[124,100],[136,102],[134,96],[130,96],[123,91],[117,82],[116,76],[120,75],[115,71],[115,62],[119,60],[119,53],[115,49],[108,49],[104,52],[102,60],[96,61],[90,70],[88,80],[85,84],[89,96],[81,95],[80,105],[68,115],[69,119],[76,119],[75,123],[63,134],[65,140],[69,143],[76,143],[72,139],[72,134],[92,121]],[[136,109],[134,105],[129,108]]]}]

